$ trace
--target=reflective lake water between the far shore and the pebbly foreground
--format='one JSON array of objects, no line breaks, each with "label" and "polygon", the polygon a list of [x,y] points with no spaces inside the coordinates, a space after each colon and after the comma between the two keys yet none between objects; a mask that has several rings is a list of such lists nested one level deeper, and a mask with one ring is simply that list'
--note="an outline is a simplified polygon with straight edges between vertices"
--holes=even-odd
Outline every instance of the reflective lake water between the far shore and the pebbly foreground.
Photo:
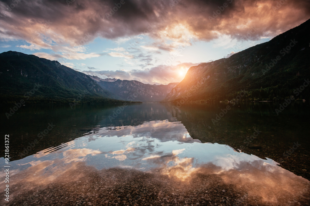
[{"label": "reflective lake water between the far shore and the pebbly foreground", "polygon": [[[211,119],[225,107],[137,104],[126,107],[114,119],[109,116],[119,107],[21,108],[4,123],[15,154],[9,164],[11,187],[33,183],[27,186],[32,190],[59,179],[70,182],[74,178],[64,174],[78,172],[83,163],[93,171],[117,167],[166,175],[181,183],[197,174],[215,175],[263,204],[307,202],[309,181],[280,167],[278,160],[283,166],[290,159],[308,159],[304,149],[309,148],[309,136],[304,136],[309,133],[305,127],[308,107],[296,104],[277,116],[272,112],[277,105],[241,104],[212,124]],[[54,128],[35,141],[48,123]],[[244,144],[254,131],[261,132],[251,144]],[[296,141],[302,146],[285,158],[286,146],[292,147]],[[253,143],[259,149],[249,148]],[[295,170],[307,168],[298,166]],[[303,169],[298,172],[308,174]],[[18,187],[14,192],[20,192]]]}]

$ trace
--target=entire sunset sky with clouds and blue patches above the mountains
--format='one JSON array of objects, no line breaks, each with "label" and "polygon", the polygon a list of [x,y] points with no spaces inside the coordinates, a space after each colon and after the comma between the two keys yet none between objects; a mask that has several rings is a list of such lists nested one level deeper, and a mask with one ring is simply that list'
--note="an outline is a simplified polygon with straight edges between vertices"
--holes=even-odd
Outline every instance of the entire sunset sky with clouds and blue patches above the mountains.
[{"label": "entire sunset sky with clouds and blue patches above the mountains", "polygon": [[0,0],[0,53],[168,84],[309,18],[309,0]]}]

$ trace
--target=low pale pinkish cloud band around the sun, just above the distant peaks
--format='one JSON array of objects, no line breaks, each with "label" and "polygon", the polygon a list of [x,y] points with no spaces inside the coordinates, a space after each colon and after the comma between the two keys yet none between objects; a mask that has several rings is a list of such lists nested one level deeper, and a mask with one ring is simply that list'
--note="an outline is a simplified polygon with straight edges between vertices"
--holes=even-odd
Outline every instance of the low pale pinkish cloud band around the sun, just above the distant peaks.
[{"label": "low pale pinkish cloud band around the sun, just above the distant peaks", "polygon": [[121,80],[137,80],[149,84],[169,84],[171,82],[181,82],[185,74],[191,66],[198,65],[193,63],[180,63],[178,65],[159,65],[151,69],[130,71],[93,71],[93,67],[88,67],[88,71],[83,71],[85,74],[98,76],[100,78],[117,78]]}]

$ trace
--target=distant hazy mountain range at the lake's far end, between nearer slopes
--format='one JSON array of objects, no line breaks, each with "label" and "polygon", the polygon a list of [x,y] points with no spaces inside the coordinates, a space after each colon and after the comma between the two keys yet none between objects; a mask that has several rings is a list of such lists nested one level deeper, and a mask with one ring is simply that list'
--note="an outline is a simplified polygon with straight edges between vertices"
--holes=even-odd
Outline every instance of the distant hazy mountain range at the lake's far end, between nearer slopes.
[{"label": "distant hazy mountain range at the lake's far end, between nearer slopes", "polygon": [[[90,76],[105,90],[114,93],[122,100],[158,102],[163,100],[166,95],[179,83],[170,83],[168,85],[150,85],[135,80],[120,79],[101,79],[97,76]],[[137,92],[137,93],[136,93]]]}]

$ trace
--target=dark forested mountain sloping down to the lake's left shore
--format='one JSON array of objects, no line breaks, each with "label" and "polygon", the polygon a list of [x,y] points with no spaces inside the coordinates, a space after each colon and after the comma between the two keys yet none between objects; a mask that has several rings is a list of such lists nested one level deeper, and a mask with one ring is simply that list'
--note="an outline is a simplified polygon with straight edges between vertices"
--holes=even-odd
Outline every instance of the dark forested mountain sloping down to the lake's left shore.
[{"label": "dark forested mountain sloping down to the lake's left shore", "polygon": [[[88,75],[34,55],[20,52],[0,54],[0,103],[116,103],[114,95]],[[75,100],[74,100],[75,99]]]}]

